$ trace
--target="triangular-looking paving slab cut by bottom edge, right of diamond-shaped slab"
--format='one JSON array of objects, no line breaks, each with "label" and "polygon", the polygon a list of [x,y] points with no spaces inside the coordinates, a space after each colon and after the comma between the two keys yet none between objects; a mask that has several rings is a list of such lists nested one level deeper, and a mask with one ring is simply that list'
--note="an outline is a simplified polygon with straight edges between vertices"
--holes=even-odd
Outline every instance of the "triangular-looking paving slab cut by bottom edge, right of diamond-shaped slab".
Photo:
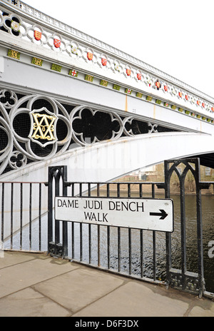
[{"label": "triangular-looking paving slab cut by bottom edge, right of diamond-shaped slab", "polygon": [[[116,309],[117,307],[117,309]],[[179,317],[188,303],[164,297],[138,282],[128,282],[73,317]]]}]

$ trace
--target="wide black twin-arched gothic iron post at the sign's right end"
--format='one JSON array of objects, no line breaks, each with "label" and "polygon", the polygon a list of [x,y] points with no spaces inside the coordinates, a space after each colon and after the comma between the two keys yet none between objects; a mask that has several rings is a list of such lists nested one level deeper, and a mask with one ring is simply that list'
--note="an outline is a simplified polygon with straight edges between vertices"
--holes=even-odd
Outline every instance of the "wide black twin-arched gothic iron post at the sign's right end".
[{"label": "wide black twin-arched gothic iron post at the sign's right end", "polygon": [[[187,265],[187,233],[186,233],[186,218],[185,218],[185,179],[188,172],[193,177],[196,187],[196,221],[197,221],[197,256],[198,270],[193,273],[188,270]],[[165,161],[165,197],[170,198],[170,179],[173,173],[178,176],[180,185],[180,254],[181,267],[180,269],[172,268],[172,238],[170,233],[166,233],[167,243],[167,278],[171,287],[186,292],[198,294],[200,297],[204,292],[204,270],[203,270],[203,231],[202,231],[202,216],[201,216],[201,192],[200,189],[200,160],[198,158],[189,158],[183,160]]]}]

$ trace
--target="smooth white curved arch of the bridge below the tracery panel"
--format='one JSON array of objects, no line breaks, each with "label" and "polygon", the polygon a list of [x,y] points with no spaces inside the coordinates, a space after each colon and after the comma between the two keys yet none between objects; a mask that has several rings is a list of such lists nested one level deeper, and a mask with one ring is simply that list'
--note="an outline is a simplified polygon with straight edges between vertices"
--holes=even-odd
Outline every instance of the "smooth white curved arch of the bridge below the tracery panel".
[{"label": "smooth white curved arch of the bridge below the tracery panel", "polygon": [[70,181],[106,182],[175,158],[199,157],[202,165],[211,167],[213,154],[212,140],[203,133],[142,134],[73,148],[61,156],[6,173],[1,180],[47,181],[49,166],[67,165]]}]

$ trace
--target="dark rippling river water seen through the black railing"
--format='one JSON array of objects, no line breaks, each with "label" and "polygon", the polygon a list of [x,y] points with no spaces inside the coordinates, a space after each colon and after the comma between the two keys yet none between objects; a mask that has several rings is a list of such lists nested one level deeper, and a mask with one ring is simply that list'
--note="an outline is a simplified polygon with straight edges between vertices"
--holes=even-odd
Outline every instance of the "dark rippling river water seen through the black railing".
[{"label": "dark rippling river water seen through the black railing", "polygon": [[[133,196],[136,196],[134,193]],[[121,196],[123,194],[121,193]],[[126,195],[127,196],[127,195]],[[146,196],[144,195],[146,198]],[[164,195],[157,195],[156,198],[164,198]],[[180,243],[180,195],[172,195],[174,205],[174,232],[172,238],[172,267],[181,270],[181,243]],[[203,220],[203,263],[205,274],[205,290],[214,292],[214,196],[202,195],[202,220]],[[196,218],[196,198],[195,195],[185,195],[185,222],[186,222],[186,254],[187,254],[187,270],[193,273],[198,273],[198,243],[197,243],[197,218]],[[153,255],[146,251],[152,250],[153,236],[152,231],[143,231],[143,250],[144,260],[151,270],[148,277],[151,277]],[[136,240],[135,240],[136,235]],[[125,235],[126,237],[126,235]],[[133,230],[132,234],[132,251],[138,250],[139,245],[137,238],[139,233]],[[103,236],[103,240],[104,236]],[[122,239],[123,240],[123,239]],[[103,243],[104,245],[104,243]],[[165,277],[165,233],[156,233],[156,258],[158,273],[161,280]],[[127,250],[124,250],[126,255]],[[112,253],[112,255],[114,255]],[[134,254],[133,254],[134,255]],[[116,256],[116,255],[114,255]],[[137,254],[136,254],[137,256]],[[136,260],[139,258],[136,258]],[[126,266],[128,259],[124,256],[123,264]],[[135,258],[132,258],[132,263],[135,265]],[[150,265],[151,264],[151,265]],[[149,266],[150,265],[150,266]],[[140,273],[138,268],[139,263],[136,261],[136,273]],[[123,265],[121,266],[123,268]]]}]

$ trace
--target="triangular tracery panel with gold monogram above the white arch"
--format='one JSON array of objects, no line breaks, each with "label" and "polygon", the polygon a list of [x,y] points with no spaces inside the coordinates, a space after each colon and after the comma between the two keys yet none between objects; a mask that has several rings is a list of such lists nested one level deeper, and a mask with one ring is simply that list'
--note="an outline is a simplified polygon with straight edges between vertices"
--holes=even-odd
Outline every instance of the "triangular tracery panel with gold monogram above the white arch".
[{"label": "triangular tracery panel with gold monogram above the white arch", "polygon": [[0,90],[0,175],[78,146],[169,130],[134,115]]}]

